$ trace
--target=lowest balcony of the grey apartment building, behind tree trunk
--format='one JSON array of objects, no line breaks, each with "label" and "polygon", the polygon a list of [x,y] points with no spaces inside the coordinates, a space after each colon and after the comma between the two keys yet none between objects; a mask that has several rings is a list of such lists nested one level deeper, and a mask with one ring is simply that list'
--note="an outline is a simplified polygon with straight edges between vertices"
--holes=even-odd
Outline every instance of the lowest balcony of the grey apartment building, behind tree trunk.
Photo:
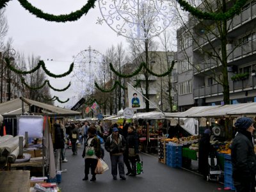
[{"label": "lowest balcony of the grey apartment building, behind tree trunk", "polygon": [[[229,81],[230,93],[243,92],[246,90],[253,90],[256,87],[256,76],[249,76],[248,79],[239,81]],[[204,86],[194,89],[194,98],[211,97],[215,95],[222,95],[223,87],[220,84],[212,84],[211,86]]]}]

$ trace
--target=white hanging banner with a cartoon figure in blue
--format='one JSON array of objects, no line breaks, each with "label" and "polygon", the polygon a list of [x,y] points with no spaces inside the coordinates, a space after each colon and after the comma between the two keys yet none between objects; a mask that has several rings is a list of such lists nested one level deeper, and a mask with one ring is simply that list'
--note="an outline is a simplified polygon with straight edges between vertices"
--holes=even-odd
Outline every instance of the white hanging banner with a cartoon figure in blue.
[{"label": "white hanging banner with a cartoon figure in blue", "polygon": [[142,92],[140,89],[136,89],[131,84],[127,83],[129,108],[144,109],[145,100],[143,99]]}]

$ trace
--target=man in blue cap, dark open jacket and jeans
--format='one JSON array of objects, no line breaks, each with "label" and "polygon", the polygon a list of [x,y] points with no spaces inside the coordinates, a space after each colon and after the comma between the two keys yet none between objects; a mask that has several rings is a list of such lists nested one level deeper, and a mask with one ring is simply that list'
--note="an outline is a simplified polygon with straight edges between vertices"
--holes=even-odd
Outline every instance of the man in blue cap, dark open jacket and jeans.
[{"label": "man in blue cap, dark open jacket and jeans", "polygon": [[118,128],[114,127],[113,132],[108,136],[105,148],[110,154],[111,160],[111,174],[113,179],[116,180],[117,176],[117,166],[119,177],[122,180],[125,180],[124,172],[124,152],[125,152],[126,141],[124,136],[118,133]]}]

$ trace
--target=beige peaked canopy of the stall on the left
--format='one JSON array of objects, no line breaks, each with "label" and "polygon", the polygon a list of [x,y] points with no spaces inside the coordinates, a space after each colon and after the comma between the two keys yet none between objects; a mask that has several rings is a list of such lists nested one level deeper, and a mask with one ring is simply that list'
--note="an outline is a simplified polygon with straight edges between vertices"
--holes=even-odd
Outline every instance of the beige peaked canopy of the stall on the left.
[{"label": "beige peaked canopy of the stall on the left", "polygon": [[59,108],[52,106],[50,104],[45,104],[43,102],[38,102],[31,99],[17,98],[9,100],[0,104],[0,114],[4,117],[14,117],[16,115],[22,114],[22,100],[24,101],[24,111],[29,112],[29,108],[35,106],[40,108],[41,111],[44,111],[45,114],[49,116],[76,116],[80,115],[80,112],[72,111],[69,109]]}]

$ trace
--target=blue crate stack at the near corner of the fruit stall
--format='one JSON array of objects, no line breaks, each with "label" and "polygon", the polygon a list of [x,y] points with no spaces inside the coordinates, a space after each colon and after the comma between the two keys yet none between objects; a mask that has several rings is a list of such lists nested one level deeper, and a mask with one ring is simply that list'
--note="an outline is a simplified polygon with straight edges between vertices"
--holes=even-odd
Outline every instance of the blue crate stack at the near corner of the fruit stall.
[{"label": "blue crate stack at the near corner of the fruit stall", "polygon": [[166,164],[171,167],[182,167],[182,145],[166,143]]}]

